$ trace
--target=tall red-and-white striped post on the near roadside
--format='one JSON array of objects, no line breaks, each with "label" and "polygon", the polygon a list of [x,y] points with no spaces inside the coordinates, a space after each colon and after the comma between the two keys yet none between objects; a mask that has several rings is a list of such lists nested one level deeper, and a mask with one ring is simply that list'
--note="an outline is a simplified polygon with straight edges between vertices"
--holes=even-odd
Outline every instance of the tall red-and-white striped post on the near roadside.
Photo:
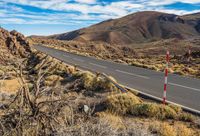
[{"label": "tall red-and-white striped post on the near roadside", "polygon": [[163,104],[166,104],[168,67],[169,67],[169,51],[167,51],[167,54],[166,54],[166,68],[165,68],[165,84],[164,84],[164,93],[163,93]]}]

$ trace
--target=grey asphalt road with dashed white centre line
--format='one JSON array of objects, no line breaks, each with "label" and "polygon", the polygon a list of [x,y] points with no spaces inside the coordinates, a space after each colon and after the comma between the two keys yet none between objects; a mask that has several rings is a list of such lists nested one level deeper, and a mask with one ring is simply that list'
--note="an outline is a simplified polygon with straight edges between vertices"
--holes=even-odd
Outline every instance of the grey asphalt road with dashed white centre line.
[{"label": "grey asphalt road with dashed white centre line", "polygon": [[[163,96],[164,73],[162,72],[98,60],[45,46],[35,45],[34,48],[65,63],[78,65],[82,69],[111,75],[120,84],[137,89],[145,94],[158,98]],[[169,74],[167,100],[200,112],[200,80]]]}]

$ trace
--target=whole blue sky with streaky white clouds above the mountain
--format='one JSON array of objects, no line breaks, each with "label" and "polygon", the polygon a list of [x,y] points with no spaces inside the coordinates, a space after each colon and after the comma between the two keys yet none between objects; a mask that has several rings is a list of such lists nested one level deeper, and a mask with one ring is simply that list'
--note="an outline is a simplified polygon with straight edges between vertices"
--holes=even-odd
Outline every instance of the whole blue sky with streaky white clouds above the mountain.
[{"label": "whole blue sky with streaky white clouds above the mountain", "polygon": [[0,25],[25,35],[64,33],[137,11],[200,12],[200,0],[0,0]]}]

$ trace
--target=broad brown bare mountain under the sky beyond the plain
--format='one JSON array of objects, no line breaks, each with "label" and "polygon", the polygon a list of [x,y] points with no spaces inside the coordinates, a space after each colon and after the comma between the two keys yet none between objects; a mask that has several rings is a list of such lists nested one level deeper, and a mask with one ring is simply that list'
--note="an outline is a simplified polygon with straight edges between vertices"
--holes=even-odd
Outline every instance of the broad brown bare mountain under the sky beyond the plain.
[{"label": "broad brown bare mountain under the sky beyond the plain", "polygon": [[119,19],[103,21],[88,28],[51,35],[48,38],[131,44],[169,38],[185,39],[196,36],[200,36],[200,13],[178,16],[144,11]]}]

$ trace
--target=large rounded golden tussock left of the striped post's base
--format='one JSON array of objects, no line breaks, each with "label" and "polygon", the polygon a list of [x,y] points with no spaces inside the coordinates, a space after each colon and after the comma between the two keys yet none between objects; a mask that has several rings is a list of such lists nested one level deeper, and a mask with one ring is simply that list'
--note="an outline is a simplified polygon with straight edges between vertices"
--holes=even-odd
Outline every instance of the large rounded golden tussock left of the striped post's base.
[{"label": "large rounded golden tussock left of the striped post's base", "polygon": [[122,115],[130,113],[130,110],[140,102],[141,100],[131,93],[111,95],[106,100],[109,111]]}]

